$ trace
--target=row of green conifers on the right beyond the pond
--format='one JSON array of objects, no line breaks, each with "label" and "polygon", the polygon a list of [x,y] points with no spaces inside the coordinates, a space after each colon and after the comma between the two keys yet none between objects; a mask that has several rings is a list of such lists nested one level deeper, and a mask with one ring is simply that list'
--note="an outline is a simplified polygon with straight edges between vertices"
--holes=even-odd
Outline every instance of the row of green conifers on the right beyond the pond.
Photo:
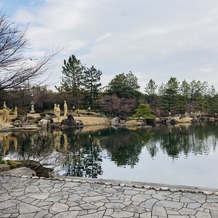
[{"label": "row of green conifers on the right beyond the pond", "polygon": [[205,81],[179,82],[171,77],[166,84],[158,87],[151,79],[146,84],[145,94],[151,107],[160,111],[216,113],[218,110],[216,90]]}]

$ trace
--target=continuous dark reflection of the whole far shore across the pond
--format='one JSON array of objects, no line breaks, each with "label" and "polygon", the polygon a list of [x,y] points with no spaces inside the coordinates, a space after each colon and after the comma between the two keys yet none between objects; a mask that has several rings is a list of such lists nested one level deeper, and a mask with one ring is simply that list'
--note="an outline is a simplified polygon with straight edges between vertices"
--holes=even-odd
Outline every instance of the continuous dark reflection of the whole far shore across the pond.
[{"label": "continuous dark reflection of the whole far shore across the pond", "polygon": [[74,129],[0,133],[0,159],[34,159],[52,165],[61,175],[98,178],[104,174],[104,160],[134,168],[143,149],[151,158],[209,155],[215,152],[217,139],[216,123],[87,133]]}]

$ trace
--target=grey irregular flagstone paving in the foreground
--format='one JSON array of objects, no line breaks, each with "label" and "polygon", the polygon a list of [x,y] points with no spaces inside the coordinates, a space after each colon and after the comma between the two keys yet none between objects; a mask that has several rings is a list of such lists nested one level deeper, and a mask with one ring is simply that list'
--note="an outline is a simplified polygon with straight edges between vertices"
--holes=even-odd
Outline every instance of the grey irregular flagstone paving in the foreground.
[{"label": "grey irregular flagstone paving in the foreground", "polygon": [[218,218],[218,193],[0,175],[0,217]]}]

